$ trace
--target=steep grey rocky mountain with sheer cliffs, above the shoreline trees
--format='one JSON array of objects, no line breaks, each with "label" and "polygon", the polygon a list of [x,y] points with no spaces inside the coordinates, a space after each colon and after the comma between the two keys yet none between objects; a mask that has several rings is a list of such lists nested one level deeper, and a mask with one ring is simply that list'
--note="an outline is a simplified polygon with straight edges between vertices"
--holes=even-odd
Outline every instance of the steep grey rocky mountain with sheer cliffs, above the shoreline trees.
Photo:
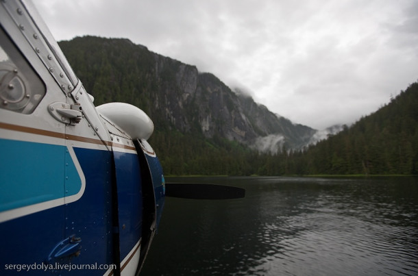
[{"label": "steep grey rocky mountain with sheer cliffs, above the shoreline trees", "polygon": [[95,104],[126,101],[156,127],[236,140],[261,151],[300,149],[315,129],[295,125],[210,73],[126,39],[85,36],[60,42]]}]

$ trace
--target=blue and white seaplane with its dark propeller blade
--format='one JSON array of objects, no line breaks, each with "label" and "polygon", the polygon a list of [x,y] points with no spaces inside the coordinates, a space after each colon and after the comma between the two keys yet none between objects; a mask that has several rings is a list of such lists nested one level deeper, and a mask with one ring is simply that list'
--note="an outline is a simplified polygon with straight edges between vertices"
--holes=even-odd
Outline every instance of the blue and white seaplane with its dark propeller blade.
[{"label": "blue and white seaplane with its dark propeller blade", "polygon": [[245,196],[166,183],[151,118],[93,102],[34,3],[0,1],[0,275],[138,275],[165,197]]}]

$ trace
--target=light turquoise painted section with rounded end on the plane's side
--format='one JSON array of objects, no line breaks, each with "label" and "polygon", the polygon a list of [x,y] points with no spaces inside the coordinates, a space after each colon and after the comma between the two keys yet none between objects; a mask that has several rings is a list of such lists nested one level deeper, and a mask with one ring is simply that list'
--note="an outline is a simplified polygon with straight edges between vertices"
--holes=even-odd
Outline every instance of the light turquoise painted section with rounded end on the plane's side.
[{"label": "light turquoise painted section with rounded end on the plane's side", "polygon": [[0,152],[0,212],[75,195],[82,187],[71,156],[65,171],[64,146],[0,139]]}]

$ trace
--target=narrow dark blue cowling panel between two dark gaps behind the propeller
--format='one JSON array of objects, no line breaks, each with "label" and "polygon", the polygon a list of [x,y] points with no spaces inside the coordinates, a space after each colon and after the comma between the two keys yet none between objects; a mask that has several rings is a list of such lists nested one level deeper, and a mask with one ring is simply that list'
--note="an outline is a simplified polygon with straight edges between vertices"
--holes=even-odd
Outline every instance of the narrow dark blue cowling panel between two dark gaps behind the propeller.
[{"label": "narrow dark blue cowling panel between two dark gaps behind the propeller", "polygon": [[121,260],[142,236],[143,196],[138,156],[114,151]]}]

